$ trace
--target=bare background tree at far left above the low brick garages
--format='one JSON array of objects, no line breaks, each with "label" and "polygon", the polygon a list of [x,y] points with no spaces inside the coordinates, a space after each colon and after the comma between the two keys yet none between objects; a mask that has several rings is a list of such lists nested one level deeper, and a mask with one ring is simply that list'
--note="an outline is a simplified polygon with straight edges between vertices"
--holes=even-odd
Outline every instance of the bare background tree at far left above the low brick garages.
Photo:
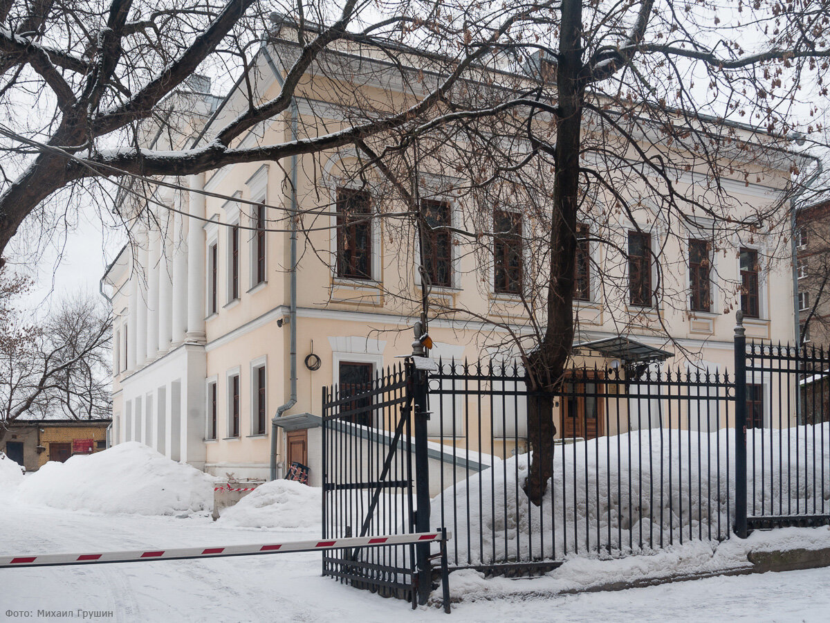
[{"label": "bare background tree at far left above the low brick garages", "polygon": [[63,300],[43,321],[17,312],[0,338],[0,439],[32,419],[105,417],[110,400],[112,317],[92,297]]}]

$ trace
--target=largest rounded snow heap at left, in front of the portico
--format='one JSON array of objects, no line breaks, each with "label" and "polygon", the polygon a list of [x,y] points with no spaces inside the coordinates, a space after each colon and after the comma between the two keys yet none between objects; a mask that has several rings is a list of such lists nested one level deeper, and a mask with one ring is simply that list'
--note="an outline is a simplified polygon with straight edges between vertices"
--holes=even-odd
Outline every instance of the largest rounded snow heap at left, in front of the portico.
[{"label": "largest rounded snow heap at left, in front of the portico", "polygon": [[23,502],[93,513],[174,515],[212,508],[213,479],[137,441],[49,462],[18,489]]}]

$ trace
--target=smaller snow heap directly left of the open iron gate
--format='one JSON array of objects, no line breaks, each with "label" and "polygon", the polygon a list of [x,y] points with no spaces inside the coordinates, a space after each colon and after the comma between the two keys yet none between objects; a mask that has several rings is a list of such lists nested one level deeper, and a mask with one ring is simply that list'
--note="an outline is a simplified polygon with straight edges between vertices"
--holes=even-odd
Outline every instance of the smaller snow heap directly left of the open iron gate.
[{"label": "smaller snow heap directly left of the open iron gate", "polygon": [[320,531],[320,488],[294,480],[261,484],[218,519],[226,526]]}]

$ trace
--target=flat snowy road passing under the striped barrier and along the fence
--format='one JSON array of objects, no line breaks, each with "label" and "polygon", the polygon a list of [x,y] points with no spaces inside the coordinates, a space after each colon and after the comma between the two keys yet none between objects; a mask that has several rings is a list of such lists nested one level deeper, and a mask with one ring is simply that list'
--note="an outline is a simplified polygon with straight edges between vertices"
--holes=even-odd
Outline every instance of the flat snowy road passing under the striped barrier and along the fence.
[{"label": "flat snowy road passing under the striped barrier and along the fence", "polygon": [[[95,515],[6,503],[0,553],[188,547],[314,538],[209,518]],[[532,586],[533,581],[520,581]],[[320,555],[0,570],[0,621],[37,611],[113,611],[100,621],[828,621],[830,570],[767,573],[572,596],[412,611],[320,577]],[[6,612],[32,611],[27,618]]]}]

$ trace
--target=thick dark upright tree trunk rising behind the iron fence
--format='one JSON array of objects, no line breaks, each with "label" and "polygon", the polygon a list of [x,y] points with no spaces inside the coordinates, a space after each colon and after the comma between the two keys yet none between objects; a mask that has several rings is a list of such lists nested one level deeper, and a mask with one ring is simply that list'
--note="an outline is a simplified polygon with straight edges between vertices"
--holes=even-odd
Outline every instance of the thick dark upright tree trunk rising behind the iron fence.
[{"label": "thick dark upright tree trunk rising behind the iron fence", "polygon": [[547,324],[539,348],[528,358],[528,437],[533,457],[525,493],[539,506],[554,466],[554,392],[561,387],[574,341],[574,262],[579,205],[579,146],[585,85],[582,70],[582,2],[564,0],[559,32],[556,84],[560,114],[556,120],[556,163],[550,228]]}]

